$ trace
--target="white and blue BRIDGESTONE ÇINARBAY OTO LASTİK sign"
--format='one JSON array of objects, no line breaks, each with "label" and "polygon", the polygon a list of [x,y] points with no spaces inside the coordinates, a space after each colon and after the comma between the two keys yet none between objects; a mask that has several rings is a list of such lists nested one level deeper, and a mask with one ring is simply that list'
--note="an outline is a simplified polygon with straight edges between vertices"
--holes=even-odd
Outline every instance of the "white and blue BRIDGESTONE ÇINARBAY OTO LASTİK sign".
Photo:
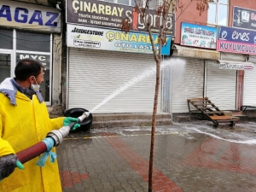
[{"label": "white and blue BRIDGESTONE \u00c7INARBAY OTO LAST\u0130K sign", "polygon": [[[153,34],[155,46],[158,35]],[[152,54],[149,35],[140,32],[121,32],[112,29],[102,29],[90,26],[74,26],[67,24],[67,46],[85,49],[104,49],[113,51]],[[161,54],[170,55],[171,36],[167,37],[162,46]]]}]

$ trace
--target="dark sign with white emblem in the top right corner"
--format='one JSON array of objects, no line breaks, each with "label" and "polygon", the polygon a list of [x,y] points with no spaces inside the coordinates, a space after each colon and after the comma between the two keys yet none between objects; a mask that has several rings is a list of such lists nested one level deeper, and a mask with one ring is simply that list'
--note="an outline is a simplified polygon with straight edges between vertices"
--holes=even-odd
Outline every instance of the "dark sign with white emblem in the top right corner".
[{"label": "dark sign with white emblem in the top right corner", "polygon": [[234,7],[233,26],[245,29],[256,29],[256,10]]}]

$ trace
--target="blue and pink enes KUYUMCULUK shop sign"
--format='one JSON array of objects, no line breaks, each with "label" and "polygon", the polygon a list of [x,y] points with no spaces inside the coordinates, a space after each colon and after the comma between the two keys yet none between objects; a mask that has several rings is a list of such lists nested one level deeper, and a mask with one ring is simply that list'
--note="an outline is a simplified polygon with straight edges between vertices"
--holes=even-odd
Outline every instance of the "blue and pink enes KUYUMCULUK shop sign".
[{"label": "blue and pink enes KUYUMCULUK shop sign", "polygon": [[218,26],[217,50],[256,55],[256,32]]}]

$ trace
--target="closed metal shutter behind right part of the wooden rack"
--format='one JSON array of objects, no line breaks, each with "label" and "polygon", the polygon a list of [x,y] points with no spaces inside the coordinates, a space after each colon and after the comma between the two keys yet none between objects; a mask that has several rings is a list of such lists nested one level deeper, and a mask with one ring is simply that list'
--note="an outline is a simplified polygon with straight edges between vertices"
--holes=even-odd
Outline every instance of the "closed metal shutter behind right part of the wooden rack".
[{"label": "closed metal shutter behind right part of the wooden rack", "polygon": [[236,70],[219,69],[215,61],[207,61],[206,96],[220,110],[236,110]]}]

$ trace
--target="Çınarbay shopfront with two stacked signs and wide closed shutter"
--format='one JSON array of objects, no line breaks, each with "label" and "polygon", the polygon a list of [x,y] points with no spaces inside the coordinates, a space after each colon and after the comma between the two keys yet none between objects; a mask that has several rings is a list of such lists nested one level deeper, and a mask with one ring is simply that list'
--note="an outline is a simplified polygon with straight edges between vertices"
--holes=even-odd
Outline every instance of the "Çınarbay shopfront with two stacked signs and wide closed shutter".
[{"label": "\u00c7\u0131narbay shopfront with two stacked signs and wide closed shutter", "polygon": [[[155,61],[143,20],[133,6],[134,1],[67,0],[67,109],[152,113]],[[120,30],[127,15],[129,33]],[[153,9],[149,16],[153,23],[159,20]],[[173,20],[168,27],[162,55],[170,55]],[[154,33],[155,42],[157,37]],[[162,89],[159,112],[161,100]]]}]

